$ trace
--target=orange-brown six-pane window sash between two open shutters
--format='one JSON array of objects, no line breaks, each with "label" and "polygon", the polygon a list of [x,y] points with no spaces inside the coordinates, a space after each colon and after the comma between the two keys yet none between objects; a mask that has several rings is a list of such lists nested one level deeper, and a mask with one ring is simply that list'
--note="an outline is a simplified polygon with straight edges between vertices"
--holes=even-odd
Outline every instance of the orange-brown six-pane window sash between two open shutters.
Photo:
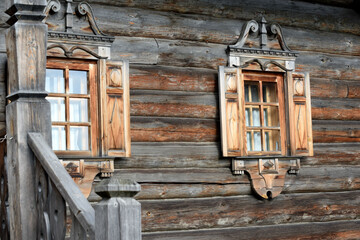
[{"label": "orange-brown six-pane window sash between two open shutters", "polygon": [[[283,76],[244,74],[245,139],[248,155],[285,152]],[[285,120],[283,120],[285,121]]]}]

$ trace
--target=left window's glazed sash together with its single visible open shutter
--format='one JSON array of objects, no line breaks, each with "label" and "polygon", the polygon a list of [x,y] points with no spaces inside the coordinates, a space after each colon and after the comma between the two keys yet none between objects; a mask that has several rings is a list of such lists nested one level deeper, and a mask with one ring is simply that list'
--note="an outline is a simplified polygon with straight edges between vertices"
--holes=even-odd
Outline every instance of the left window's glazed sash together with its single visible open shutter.
[{"label": "left window's glazed sash together with its single visible open shutter", "polygon": [[48,59],[45,86],[55,153],[130,155],[128,65],[109,66],[106,60]]}]

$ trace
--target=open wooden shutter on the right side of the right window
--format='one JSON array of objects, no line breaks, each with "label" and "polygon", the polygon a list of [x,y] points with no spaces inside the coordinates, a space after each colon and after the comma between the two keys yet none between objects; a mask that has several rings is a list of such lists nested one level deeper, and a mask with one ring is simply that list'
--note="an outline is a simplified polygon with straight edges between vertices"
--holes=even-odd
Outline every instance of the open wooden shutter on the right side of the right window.
[{"label": "open wooden shutter on the right side of the right window", "polygon": [[290,147],[293,156],[313,156],[309,73],[288,76]]}]

